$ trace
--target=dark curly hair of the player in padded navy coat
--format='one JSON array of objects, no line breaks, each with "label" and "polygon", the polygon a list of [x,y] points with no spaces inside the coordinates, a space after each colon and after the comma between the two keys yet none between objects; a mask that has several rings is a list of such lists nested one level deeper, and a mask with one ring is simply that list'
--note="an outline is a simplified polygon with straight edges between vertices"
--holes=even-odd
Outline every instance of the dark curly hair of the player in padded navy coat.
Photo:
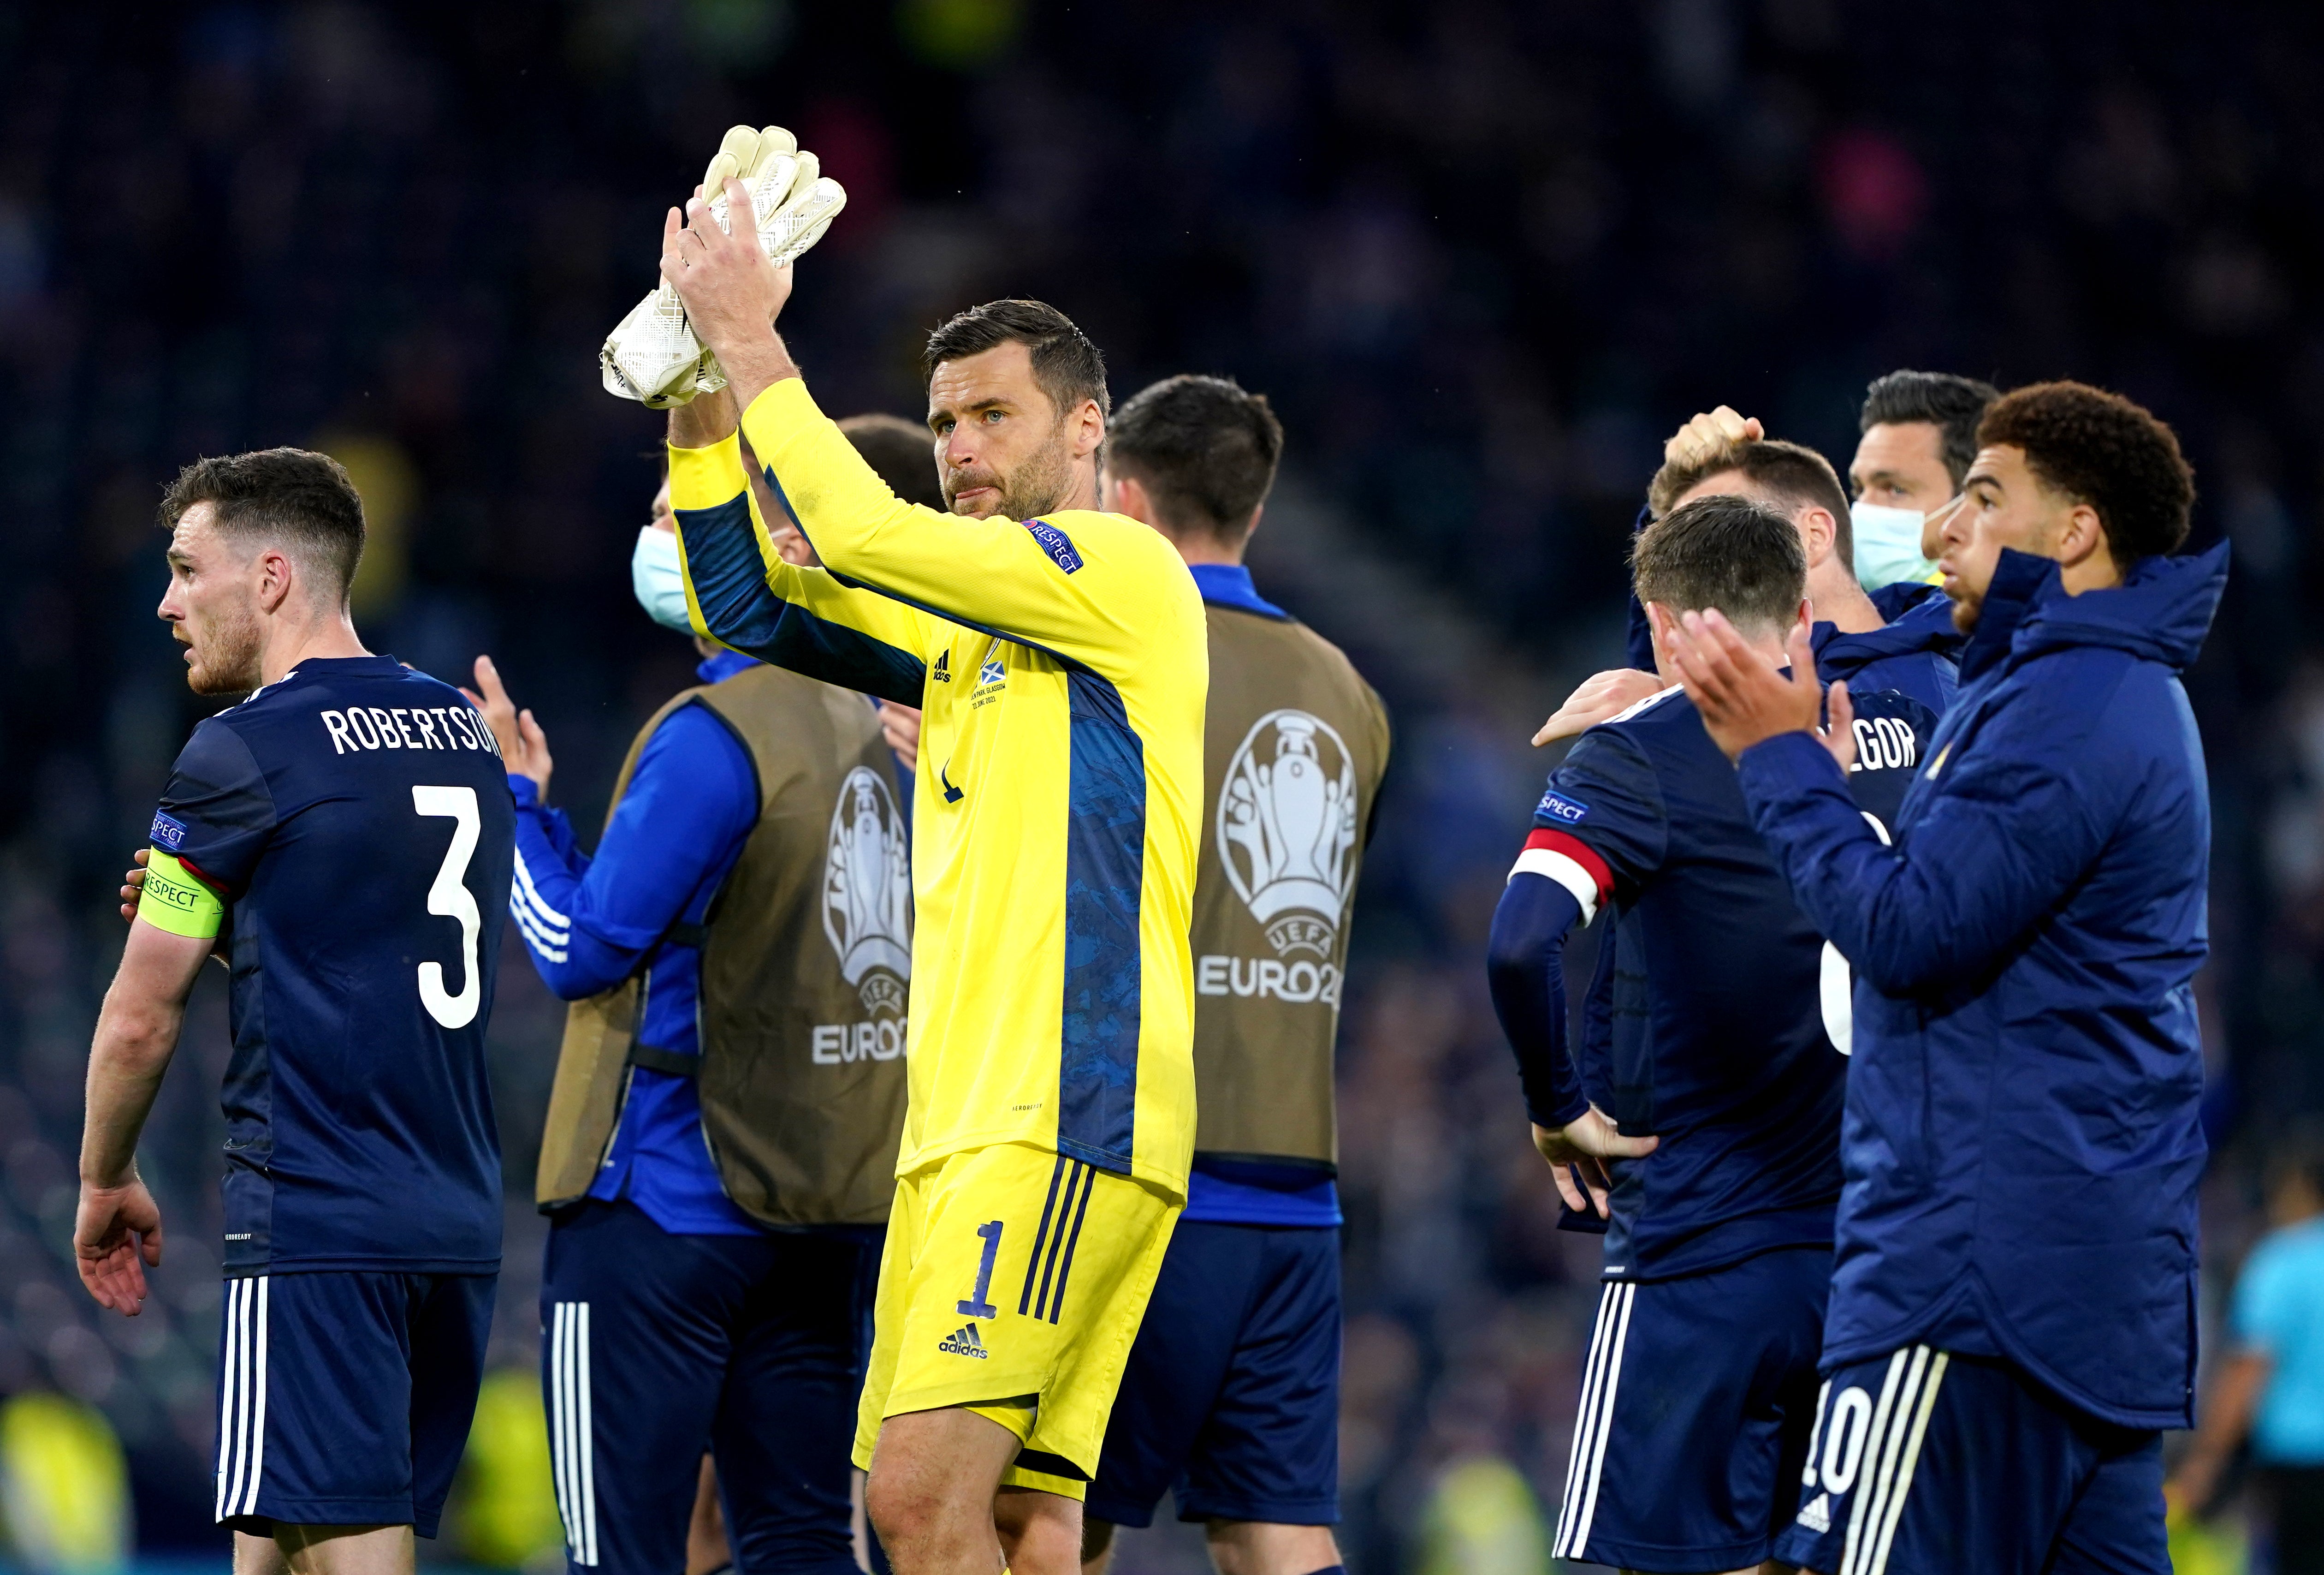
[{"label": "dark curly hair of the player in padded navy coat", "polygon": [[2054,493],[2087,503],[2115,568],[2178,551],[2194,512],[2194,465],[2145,407],[2089,384],[2010,389],[1978,423],[1978,444],[2022,449]]}]

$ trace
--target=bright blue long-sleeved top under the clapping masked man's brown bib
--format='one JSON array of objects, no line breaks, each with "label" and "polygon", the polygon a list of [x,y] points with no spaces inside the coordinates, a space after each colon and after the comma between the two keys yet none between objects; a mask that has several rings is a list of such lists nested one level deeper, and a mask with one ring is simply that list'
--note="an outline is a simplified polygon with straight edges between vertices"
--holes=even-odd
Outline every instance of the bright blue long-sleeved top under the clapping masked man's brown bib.
[{"label": "bright blue long-sleeved top under the clapping masked man's brown bib", "polygon": [[[706,684],[755,665],[720,651],[700,665]],[[695,1003],[702,952],[665,940],[672,924],[702,924],[727,870],[758,824],[758,770],[727,726],[702,705],[681,705],[653,731],[630,786],[597,840],[581,851],[562,810],[539,800],[530,777],[516,796],[516,917],[532,965],[562,1000],[627,979],[644,963],[637,1038],[697,1056]],[[674,1235],[755,1235],[711,1163],[693,1077],[630,1068],[611,1149],[590,1198],[630,1198]]]}]

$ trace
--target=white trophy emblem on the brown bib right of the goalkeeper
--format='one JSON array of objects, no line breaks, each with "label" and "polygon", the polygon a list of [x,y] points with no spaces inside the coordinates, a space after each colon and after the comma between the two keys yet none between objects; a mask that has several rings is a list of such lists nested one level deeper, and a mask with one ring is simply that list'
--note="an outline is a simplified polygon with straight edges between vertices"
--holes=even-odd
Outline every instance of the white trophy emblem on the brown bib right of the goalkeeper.
[{"label": "white trophy emblem on the brown bib right of the goalkeeper", "polygon": [[1278,956],[1332,956],[1348,910],[1355,831],[1346,740],[1308,712],[1260,717],[1218,791],[1218,861]]}]

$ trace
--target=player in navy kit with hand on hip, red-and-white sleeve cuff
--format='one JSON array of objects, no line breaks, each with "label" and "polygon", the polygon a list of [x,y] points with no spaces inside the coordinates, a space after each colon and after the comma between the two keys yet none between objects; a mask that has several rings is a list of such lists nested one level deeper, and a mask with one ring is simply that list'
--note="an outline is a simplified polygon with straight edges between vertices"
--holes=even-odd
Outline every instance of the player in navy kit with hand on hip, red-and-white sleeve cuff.
[{"label": "player in navy kit with hand on hip, red-and-white sleeve cuff", "polygon": [[[1729,491],[1648,526],[1631,568],[1664,675],[1673,617],[1713,605],[1748,633],[1752,663],[1783,665],[1785,630],[1808,623],[1801,537],[1796,519]],[[1864,700],[1882,737],[1915,707]],[[1906,756],[1868,756],[1848,779],[1862,812],[1889,814]],[[1585,1012],[1566,1066],[1559,952],[1597,912],[1606,1007]],[[1601,1177],[1562,1177],[1576,1212],[1597,1193],[1606,1291],[1557,1559],[1755,1568],[1801,1508],[1841,1196],[1836,963],[1676,686],[1585,733],[1550,775],[1494,914],[1494,1007],[1536,1142],[1597,1124],[1585,1098],[1620,1133],[1659,1138],[1615,1168],[1611,1198]]]}]

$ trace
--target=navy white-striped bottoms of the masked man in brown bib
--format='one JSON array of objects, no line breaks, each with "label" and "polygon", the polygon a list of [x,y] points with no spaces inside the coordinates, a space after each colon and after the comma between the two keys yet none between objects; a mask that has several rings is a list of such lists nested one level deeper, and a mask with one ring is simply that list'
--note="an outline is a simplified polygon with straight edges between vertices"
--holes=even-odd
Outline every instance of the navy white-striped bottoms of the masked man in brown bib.
[{"label": "navy white-striped bottoms of the masked man in brown bib", "polygon": [[548,1228],[541,1387],[574,1570],[686,1568],[702,1454],[741,1575],[858,1575],[855,1394],[878,1233],[672,1235],[634,1203]]}]

